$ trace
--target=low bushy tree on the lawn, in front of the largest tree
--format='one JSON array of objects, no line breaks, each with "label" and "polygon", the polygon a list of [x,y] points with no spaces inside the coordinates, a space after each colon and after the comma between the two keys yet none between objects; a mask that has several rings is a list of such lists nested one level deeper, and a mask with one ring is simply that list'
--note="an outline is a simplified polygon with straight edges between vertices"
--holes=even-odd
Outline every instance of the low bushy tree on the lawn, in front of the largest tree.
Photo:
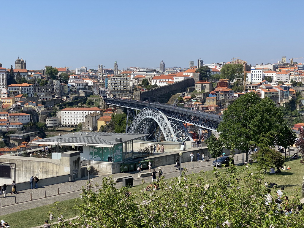
[{"label": "low bushy tree on the lawn, in front of the largest tree", "polygon": [[260,150],[251,155],[251,159],[257,160],[261,170],[264,173],[270,168],[277,168],[278,173],[281,173],[280,167],[285,162],[285,157],[277,150],[271,149],[265,145],[259,145]]}]

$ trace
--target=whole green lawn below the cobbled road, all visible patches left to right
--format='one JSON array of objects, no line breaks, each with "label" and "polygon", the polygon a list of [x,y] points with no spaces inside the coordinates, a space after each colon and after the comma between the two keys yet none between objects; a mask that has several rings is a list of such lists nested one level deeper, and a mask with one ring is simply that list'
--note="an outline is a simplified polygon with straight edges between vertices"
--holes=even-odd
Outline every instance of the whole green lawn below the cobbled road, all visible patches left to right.
[{"label": "whole green lawn below the cobbled road, all visible patches left to right", "polygon": [[[302,179],[304,175],[304,165],[300,163],[300,159],[295,159],[292,161],[286,162],[287,166],[290,166],[291,170],[284,171],[282,170],[281,174],[269,174],[267,172],[264,175],[264,181],[275,182],[278,185],[278,188],[281,188],[282,186],[285,187],[285,192],[288,196],[291,196],[294,192],[294,189],[301,190],[302,186]],[[244,166],[237,166],[237,168],[241,169],[244,168]],[[223,170],[222,168],[219,168],[219,171]],[[252,164],[249,166],[249,170],[254,173],[258,171],[258,165]],[[212,171],[208,171],[212,173]],[[188,170],[188,174],[191,174],[191,169]],[[164,174],[165,176],[166,174]],[[193,174],[194,179],[199,175],[199,173]],[[214,175],[211,174],[209,176],[210,178],[214,178]],[[242,182],[243,175],[240,175],[240,183]],[[149,177],[147,179],[150,180]],[[170,180],[170,179],[168,179]],[[149,181],[150,182],[150,181]],[[141,189],[146,188],[146,186],[149,185],[149,183],[142,185],[137,185],[132,188],[129,188],[130,192],[132,193],[139,193]],[[275,190],[276,191],[276,190]],[[157,192],[156,194],[160,194],[161,192]],[[298,193],[301,195],[301,192]],[[139,198],[138,198],[139,199]],[[78,199],[79,200],[79,199]],[[67,213],[64,213],[65,218],[72,218],[78,215],[78,213],[73,209],[75,199],[66,200],[58,203],[58,207],[61,209],[67,209]],[[11,227],[14,228],[29,228],[33,226],[39,226],[44,223],[45,219],[49,219],[48,212],[50,211],[50,207],[54,207],[53,204],[37,207],[34,209],[29,209],[21,212],[16,212],[8,215],[1,216],[1,219],[4,221],[7,221]],[[16,219],[18,218],[18,219]],[[57,218],[55,218],[57,219]],[[22,221],[22,223],[20,222]]]}]

